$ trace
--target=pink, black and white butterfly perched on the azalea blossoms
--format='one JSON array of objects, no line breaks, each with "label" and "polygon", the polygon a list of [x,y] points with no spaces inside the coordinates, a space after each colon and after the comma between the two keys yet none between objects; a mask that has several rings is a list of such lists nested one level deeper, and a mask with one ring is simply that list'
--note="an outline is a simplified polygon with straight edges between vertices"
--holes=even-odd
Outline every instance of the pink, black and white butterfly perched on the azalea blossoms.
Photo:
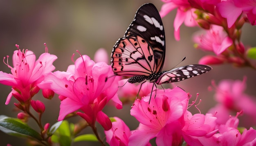
[{"label": "pink, black and white butterfly perched on the azalea blossoms", "polygon": [[111,66],[115,75],[130,76],[128,82],[149,80],[154,84],[178,82],[212,68],[192,64],[162,71],[165,58],[164,27],[154,4],[139,7],[135,18],[123,38],[117,40],[111,53]]}]

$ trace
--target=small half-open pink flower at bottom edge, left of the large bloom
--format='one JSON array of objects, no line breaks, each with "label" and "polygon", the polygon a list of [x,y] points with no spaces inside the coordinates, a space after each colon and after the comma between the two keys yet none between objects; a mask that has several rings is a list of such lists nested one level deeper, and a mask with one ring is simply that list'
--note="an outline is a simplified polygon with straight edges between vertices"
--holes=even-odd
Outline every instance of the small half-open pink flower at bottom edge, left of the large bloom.
[{"label": "small half-open pink flower at bottom edge, left of the large bloom", "polygon": [[106,142],[110,146],[128,146],[131,135],[129,127],[118,117],[114,117],[114,119],[115,122],[112,122],[112,128],[105,131]]}]

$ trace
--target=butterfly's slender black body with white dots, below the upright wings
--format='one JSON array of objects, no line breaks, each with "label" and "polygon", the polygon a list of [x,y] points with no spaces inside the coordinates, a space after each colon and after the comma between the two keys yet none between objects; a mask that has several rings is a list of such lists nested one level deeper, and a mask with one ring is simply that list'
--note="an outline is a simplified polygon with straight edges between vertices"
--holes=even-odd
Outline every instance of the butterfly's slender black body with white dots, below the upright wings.
[{"label": "butterfly's slender black body with white dots, below the upright wings", "polygon": [[140,83],[144,80],[149,80],[150,83],[152,83],[152,82],[155,82],[160,77],[160,75],[162,75],[165,72],[166,71],[161,71],[161,72],[158,72],[158,73],[152,73],[149,76],[146,76],[146,75],[133,76],[133,77],[129,78],[128,82],[129,83]]}]

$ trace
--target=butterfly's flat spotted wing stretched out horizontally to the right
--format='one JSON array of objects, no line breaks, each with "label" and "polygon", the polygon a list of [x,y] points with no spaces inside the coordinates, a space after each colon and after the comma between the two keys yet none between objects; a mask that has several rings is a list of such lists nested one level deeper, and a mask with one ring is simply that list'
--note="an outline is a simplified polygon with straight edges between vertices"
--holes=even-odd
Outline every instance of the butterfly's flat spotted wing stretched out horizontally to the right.
[{"label": "butterfly's flat spotted wing stretched out horizontally to the right", "polygon": [[159,85],[164,83],[179,82],[190,77],[195,77],[197,75],[207,73],[211,69],[211,66],[201,64],[181,66],[172,69],[171,71],[164,72],[162,75],[160,75],[155,83]]}]

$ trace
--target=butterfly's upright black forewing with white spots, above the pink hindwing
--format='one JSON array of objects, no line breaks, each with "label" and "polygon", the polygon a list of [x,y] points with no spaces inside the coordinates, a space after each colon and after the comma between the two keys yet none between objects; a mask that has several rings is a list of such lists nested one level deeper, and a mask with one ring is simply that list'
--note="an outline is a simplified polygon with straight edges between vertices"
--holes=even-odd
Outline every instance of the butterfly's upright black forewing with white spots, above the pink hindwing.
[{"label": "butterfly's upright black forewing with white spots, above the pink hindwing", "polygon": [[136,12],[125,36],[141,36],[153,48],[156,72],[160,72],[165,58],[165,34],[162,19],[154,4],[144,4]]}]

